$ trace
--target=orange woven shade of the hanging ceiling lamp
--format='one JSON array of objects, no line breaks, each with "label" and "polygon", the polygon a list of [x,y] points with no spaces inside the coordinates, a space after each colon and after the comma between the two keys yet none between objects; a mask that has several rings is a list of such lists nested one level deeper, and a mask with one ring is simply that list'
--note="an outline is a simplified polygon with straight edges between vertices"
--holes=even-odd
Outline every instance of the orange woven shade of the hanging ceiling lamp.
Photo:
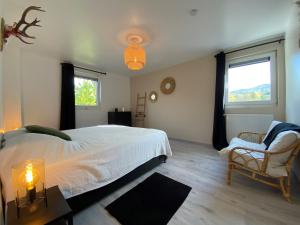
[{"label": "orange woven shade of the hanging ceiling lamp", "polygon": [[129,45],[124,52],[125,64],[130,70],[141,70],[146,64],[146,52],[138,44]]}]

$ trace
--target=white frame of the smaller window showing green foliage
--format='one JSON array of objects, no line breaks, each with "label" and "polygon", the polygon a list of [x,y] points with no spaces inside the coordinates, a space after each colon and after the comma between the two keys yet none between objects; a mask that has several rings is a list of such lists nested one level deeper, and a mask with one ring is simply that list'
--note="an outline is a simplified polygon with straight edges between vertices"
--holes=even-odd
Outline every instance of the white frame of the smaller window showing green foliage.
[{"label": "white frame of the smaller window showing green foliage", "polygon": [[88,109],[99,108],[100,104],[101,104],[101,80],[100,80],[100,78],[98,76],[90,74],[90,73],[75,70],[74,87],[75,87],[75,78],[97,81],[97,93],[96,93],[97,105],[76,105],[76,103],[75,103],[76,109],[88,110]]}]

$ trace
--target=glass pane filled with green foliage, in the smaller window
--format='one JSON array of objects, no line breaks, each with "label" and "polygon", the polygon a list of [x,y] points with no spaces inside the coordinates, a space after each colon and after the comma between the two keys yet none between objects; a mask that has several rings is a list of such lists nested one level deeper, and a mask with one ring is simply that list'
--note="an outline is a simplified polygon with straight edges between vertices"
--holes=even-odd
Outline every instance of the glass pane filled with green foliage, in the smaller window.
[{"label": "glass pane filled with green foliage, in the smaller window", "polygon": [[77,106],[96,106],[97,87],[95,80],[75,77],[75,105]]}]

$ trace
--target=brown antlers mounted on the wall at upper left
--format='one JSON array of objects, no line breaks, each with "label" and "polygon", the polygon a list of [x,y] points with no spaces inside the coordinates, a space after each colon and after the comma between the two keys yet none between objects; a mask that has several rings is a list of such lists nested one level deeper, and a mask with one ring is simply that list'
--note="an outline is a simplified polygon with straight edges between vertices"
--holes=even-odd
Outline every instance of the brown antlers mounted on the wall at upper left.
[{"label": "brown antlers mounted on the wall at upper left", "polygon": [[[40,20],[38,20],[37,18],[35,18],[35,20],[30,23],[26,22],[26,16],[32,10],[45,12],[44,10],[41,9],[41,7],[37,7],[37,6],[30,6],[27,9],[25,9],[19,22],[14,23],[13,26],[5,26],[5,31],[4,31],[5,42],[6,39],[8,39],[10,36],[15,36],[26,44],[33,44],[23,39],[23,38],[35,39],[34,36],[30,36],[26,32],[30,27],[41,27],[41,25],[39,25]],[[23,25],[24,27],[21,28]]]}]

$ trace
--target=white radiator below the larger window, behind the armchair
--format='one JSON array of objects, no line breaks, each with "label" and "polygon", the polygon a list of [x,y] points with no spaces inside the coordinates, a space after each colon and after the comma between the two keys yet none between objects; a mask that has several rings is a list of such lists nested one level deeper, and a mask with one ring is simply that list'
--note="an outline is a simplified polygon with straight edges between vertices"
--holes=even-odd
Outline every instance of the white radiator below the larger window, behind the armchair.
[{"label": "white radiator below the larger window, behind the armchair", "polygon": [[266,133],[273,119],[272,114],[227,114],[227,140],[244,131]]}]

